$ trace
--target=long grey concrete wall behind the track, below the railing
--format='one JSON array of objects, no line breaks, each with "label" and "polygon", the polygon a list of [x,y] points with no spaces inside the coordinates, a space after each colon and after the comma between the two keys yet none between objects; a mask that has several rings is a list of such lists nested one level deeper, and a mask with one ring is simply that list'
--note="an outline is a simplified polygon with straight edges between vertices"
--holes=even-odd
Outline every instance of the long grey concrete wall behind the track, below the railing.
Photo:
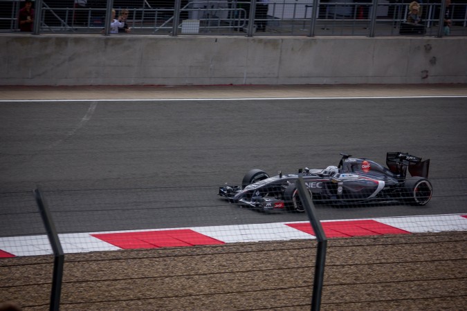
[{"label": "long grey concrete wall behind the track, below the railing", "polygon": [[459,37],[0,35],[1,85],[467,83]]}]

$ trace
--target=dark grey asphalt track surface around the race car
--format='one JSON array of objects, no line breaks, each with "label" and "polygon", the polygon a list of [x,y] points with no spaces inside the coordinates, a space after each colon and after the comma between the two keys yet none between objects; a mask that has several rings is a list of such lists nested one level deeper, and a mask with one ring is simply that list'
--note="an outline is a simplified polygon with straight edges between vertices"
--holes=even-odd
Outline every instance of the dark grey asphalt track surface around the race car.
[{"label": "dark grey asphalt track surface around the race car", "polygon": [[0,103],[0,236],[43,233],[32,190],[60,233],[306,220],[217,197],[249,169],[336,165],[339,153],[431,159],[426,207],[320,206],[321,219],[465,213],[467,98]]}]

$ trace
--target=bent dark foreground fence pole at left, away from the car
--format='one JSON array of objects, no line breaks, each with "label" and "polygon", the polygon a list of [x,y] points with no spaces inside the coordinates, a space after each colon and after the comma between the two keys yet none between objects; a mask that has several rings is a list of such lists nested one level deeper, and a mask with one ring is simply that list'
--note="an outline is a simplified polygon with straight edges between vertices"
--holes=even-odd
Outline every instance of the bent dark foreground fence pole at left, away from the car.
[{"label": "bent dark foreground fence pole at left, away from the car", "polygon": [[39,187],[34,190],[34,195],[42,216],[42,221],[44,222],[44,227],[46,227],[48,241],[50,241],[53,249],[54,261],[50,310],[58,311],[60,310],[60,294],[62,293],[64,253],[51,213],[48,210],[48,205]]}]

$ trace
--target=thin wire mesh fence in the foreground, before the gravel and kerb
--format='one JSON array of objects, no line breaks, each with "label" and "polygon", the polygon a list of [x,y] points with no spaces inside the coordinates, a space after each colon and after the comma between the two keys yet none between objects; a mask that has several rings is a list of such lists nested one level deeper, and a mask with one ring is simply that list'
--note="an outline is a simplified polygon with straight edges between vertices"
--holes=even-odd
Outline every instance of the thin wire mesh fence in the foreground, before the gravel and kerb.
[{"label": "thin wire mesh fence in the foreground, before the gravel and kerb", "polygon": [[[452,191],[461,195],[455,201],[465,205],[466,178],[434,180],[434,185],[440,182],[457,185]],[[319,186],[304,185],[312,196]],[[419,308],[421,300],[433,308],[457,309],[465,303],[467,214],[322,220],[330,238],[326,257],[307,220],[311,214],[297,210],[306,202],[300,189],[275,205],[278,214],[215,200],[218,189],[44,191],[66,253],[58,267],[49,243],[54,230],[42,225],[44,208],[37,207],[33,192],[1,194],[0,301],[23,310],[387,309],[394,303]],[[403,194],[401,204],[415,203],[405,200],[409,194],[414,192]],[[263,191],[255,200],[268,196],[283,198]],[[445,197],[434,191],[428,204]],[[313,207],[317,214],[331,208],[349,216],[371,206],[320,203]],[[394,204],[377,202],[382,208]],[[274,222],[284,214],[295,220]],[[206,225],[206,220],[214,221]],[[315,257],[325,261],[325,269],[318,270]],[[320,274],[324,279],[317,282]],[[322,286],[318,301],[317,285]]]}]

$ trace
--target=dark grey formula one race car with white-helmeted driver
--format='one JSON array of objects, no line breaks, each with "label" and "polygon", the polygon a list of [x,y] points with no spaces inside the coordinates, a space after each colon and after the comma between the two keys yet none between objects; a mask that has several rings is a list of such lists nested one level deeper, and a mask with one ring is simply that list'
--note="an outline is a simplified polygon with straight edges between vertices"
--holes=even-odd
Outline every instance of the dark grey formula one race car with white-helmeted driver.
[{"label": "dark grey formula one race car with white-helmeted driver", "polygon": [[[301,176],[315,203],[349,205],[365,202],[403,202],[425,205],[432,196],[428,178],[430,159],[408,153],[388,152],[387,167],[365,158],[340,153],[337,167],[299,169],[298,173],[270,177],[252,169],[241,185],[219,187],[219,196],[241,206],[262,211],[304,211],[295,181]],[[407,171],[410,176],[406,178]]]}]

